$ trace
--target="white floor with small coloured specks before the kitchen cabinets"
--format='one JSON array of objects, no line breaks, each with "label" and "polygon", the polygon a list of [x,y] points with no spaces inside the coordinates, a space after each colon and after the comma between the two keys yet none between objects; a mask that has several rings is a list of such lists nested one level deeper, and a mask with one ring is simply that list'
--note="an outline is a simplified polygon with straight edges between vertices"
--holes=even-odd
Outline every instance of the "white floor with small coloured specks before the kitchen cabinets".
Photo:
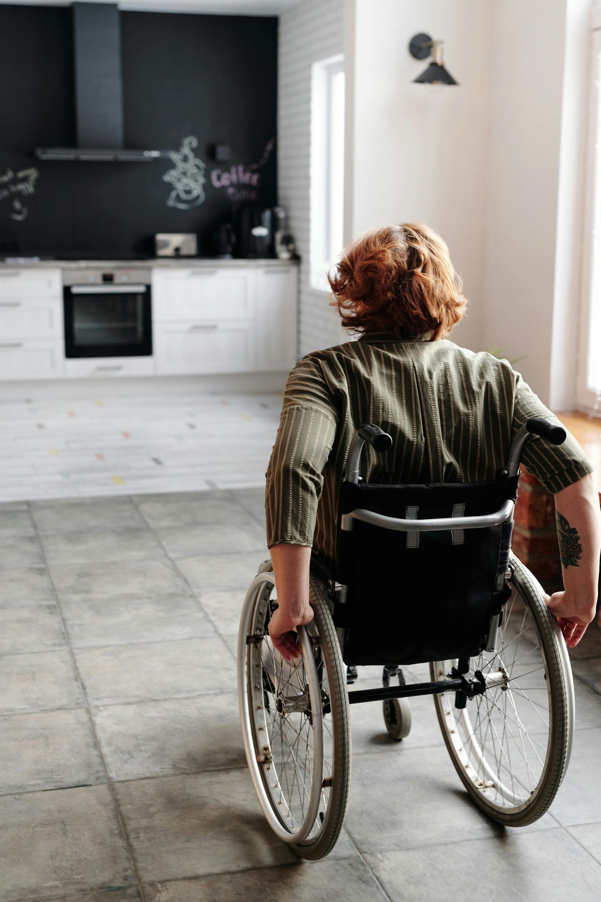
[{"label": "white floor with small coloured specks before the kitchen cabinets", "polygon": [[186,380],[158,396],[44,388],[0,398],[0,502],[264,483],[277,394],[200,393]]}]

